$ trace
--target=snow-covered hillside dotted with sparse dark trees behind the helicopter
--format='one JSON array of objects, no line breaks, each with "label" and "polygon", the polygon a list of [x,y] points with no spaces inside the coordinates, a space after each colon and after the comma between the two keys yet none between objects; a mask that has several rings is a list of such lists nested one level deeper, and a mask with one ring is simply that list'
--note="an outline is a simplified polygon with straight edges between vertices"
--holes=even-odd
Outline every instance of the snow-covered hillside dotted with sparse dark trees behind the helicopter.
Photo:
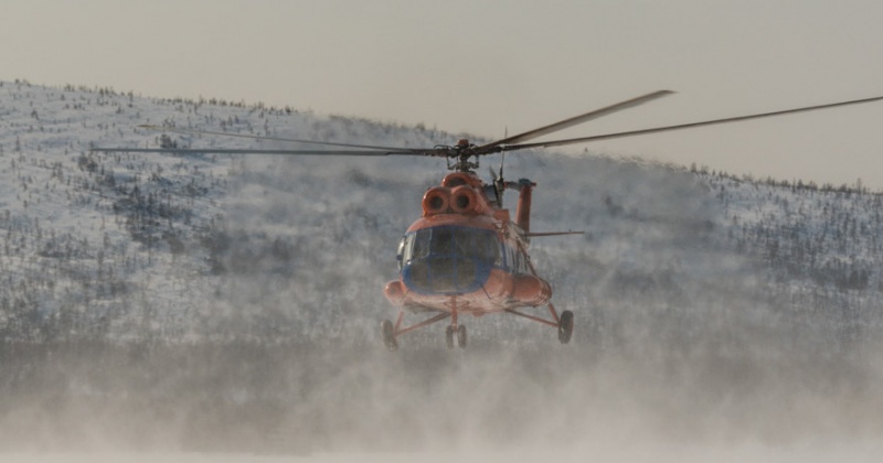
[{"label": "snow-covered hillside dotted with sparse dark trees behind the helicopter", "polygon": [[[96,330],[118,338],[373,337],[376,320],[392,312],[381,288],[395,276],[395,244],[419,214],[423,190],[444,174],[439,161],[88,149],[161,143],[138,128],[145,122],[371,144],[455,138],[264,105],[24,82],[3,83],[0,91],[7,337]],[[179,134],[166,142],[280,144]],[[757,300],[764,324],[805,316],[808,304],[826,312],[826,330],[830,319],[836,332],[876,323],[876,194],[597,154],[517,153],[507,164],[511,175],[540,185],[538,229],[587,230],[585,238],[538,239],[532,249],[556,303],[581,314],[584,335],[632,330],[635,316],[653,325],[682,316],[678,323],[704,331],[717,322],[695,311],[731,312],[743,303],[757,311]],[[518,322],[479,325],[534,337]]]}]

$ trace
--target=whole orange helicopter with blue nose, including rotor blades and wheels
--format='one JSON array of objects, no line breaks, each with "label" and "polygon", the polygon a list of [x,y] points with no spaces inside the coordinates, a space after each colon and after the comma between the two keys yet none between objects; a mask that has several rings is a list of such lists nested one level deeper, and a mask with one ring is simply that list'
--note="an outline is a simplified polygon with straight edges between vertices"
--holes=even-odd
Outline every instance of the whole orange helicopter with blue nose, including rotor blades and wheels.
[{"label": "whole orange helicopter with blue nose, including rotor blades and wheels", "polygon": [[[384,288],[386,299],[398,312],[395,322],[389,319],[381,322],[383,344],[387,349],[396,351],[398,338],[402,335],[446,321],[446,346],[449,349],[454,348],[456,340],[456,344],[464,348],[468,344],[468,336],[466,325],[460,323],[461,316],[483,316],[493,313],[507,313],[551,326],[557,332],[558,342],[567,344],[573,336],[574,313],[570,310],[558,312],[551,302],[552,284],[540,277],[528,254],[528,248],[532,238],[577,235],[583,232],[535,233],[532,230],[531,201],[536,183],[528,179],[504,180],[506,152],[692,129],[883,99],[883,96],[880,96],[674,126],[530,142],[540,137],[672,94],[671,90],[652,91],[483,144],[475,144],[467,139],[461,139],[455,144],[437,144],[432,148],[379,147],[145,125],[139,127],[163,132],[242,137],[325,148],[292,150],[179,149],[174,146],[161,144],[160,148],[93,148],[92,151],[444,158],[447,160],[447,168],[450,172],[443,177],[438,185],[428,187],[424,193],[421,200],[423,214],[405,230],[398,245],[396,252],[398,277],[386,283]],[[168,140],[168,137],[163,137],[163,140]],[[490,182],[481,180],[476,173],[480,166],[480,158],[498,153],[501,154],[499,171],[490,169]],[[507,191],[515,191],[519,195],[514,217],[503,206],[503,193]],[[547,314],[528,312],[543,306]],[[428,316],[416,323],[405,324],[405,316],[408,314],[428,314]]]}]

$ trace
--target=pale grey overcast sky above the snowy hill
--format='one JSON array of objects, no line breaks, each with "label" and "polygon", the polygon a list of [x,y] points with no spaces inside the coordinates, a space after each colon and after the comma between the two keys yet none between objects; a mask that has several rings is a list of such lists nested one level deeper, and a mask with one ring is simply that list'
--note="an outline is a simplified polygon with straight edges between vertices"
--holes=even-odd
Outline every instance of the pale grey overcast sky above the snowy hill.
[{"label": "pale grey overcast sky above the snowy hill", "polygon": [[[561,137],[883,96],[880,0],[0,7],[0,79],[264,101],[488,138],[657,89],[678,94]],[[586,148],[883,190],[883,103]]]}]

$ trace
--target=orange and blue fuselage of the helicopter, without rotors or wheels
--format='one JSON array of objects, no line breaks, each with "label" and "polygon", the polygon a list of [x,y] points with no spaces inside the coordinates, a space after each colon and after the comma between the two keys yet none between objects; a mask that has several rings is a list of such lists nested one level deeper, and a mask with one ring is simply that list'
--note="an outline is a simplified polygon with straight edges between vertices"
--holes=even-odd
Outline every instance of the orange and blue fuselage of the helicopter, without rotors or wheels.
[{"label": "orange and blue fuselage of the helicopter, without rotors or wheels", "polygon": [[[552,290],[533,270],[525,230],[485,186],[458,172],[427,190],[423,217],[400,244],[398,279],[385,289],[390,302],[412,313],[480,316],[549,301]],[[530,187],[522,189],[519,216],[529,214],[525,202]]]}]

